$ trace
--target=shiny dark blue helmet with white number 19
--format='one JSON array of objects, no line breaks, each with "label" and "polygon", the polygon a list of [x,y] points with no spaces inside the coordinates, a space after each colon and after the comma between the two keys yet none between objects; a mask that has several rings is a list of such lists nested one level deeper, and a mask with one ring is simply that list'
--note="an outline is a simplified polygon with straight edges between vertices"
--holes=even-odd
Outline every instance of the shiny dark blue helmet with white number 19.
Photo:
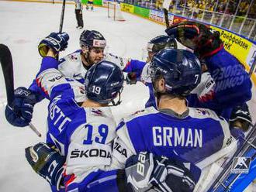
[{"label": "shiny dark blue helmet with white number 19", "polygon": [[[85,74],[85,91],[88,99],[101,104],[120,104],[123,90],[123,72],[112,62],[102,60],[94,64]],[[119,94],[119,101],[114,98]]]}]

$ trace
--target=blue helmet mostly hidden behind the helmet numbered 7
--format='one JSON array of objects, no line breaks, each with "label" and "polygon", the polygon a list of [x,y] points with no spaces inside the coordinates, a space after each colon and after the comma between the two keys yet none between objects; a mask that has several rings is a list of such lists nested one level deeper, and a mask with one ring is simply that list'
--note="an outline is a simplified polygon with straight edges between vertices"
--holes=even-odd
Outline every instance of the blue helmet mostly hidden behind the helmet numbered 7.
[{"label": "blue helmet mostly hidden behind the helmet numbered 7", "polygon": [[175,39],[169,36],[156,36],[147,43],[147,51],[157,53],[164,48],[177,49],[177,43]]}]

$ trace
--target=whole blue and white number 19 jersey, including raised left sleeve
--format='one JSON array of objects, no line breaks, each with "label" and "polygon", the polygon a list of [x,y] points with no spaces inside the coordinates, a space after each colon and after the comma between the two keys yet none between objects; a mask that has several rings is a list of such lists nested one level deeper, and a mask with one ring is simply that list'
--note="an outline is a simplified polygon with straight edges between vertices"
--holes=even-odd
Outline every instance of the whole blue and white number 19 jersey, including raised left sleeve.
[{"label": "whole blue and white number 19 jersey, including raised left sleeve", "polygon": [[109,107],[78,106],[86,100],[84,85],[64,77],[57,67],[57,60],[44,57],[36,82],[50,98],[47,143],[67,157],[66,174],[74,175],[75,183],[110,165],[116,122]]}]

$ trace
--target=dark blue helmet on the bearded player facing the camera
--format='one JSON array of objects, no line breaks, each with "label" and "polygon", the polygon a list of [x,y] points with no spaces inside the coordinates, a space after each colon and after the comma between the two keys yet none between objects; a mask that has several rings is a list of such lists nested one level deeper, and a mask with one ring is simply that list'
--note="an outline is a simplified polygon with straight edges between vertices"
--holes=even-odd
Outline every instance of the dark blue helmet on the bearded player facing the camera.
[{"label": "dark blue helmet on the bearded player facing the camera", "polygon": [[80,35],[80,46],[105,48],[106,39],[95,30],[84,30]]}]

